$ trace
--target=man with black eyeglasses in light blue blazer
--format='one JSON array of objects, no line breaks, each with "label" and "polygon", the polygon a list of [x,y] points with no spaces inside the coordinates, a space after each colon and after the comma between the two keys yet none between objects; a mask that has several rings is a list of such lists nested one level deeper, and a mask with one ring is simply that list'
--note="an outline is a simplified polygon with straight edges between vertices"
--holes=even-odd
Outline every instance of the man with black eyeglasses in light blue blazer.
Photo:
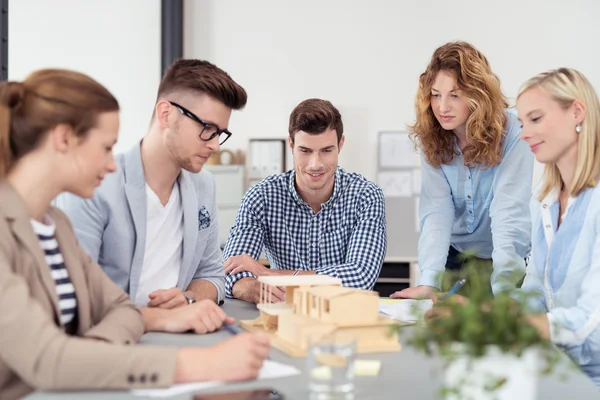
[{"label": "man with black eyeglasses in light blue blazer", "polygon": [[[178,60],[165,72],[144,138],[116,157],[92,199],[56,204],[108,276],[142,311],[147,331],[211,332],[228,323],[215,180],[202,167],[231,136],[245,90],[223,70]],[[185,306],[185,307],[181,307]]]}]

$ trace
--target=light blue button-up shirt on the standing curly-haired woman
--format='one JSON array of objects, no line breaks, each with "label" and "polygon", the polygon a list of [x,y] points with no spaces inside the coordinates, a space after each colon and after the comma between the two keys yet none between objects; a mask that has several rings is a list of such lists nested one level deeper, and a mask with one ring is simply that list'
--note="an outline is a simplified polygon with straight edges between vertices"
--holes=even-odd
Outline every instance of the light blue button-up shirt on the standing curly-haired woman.
[{"label": "light blue button-up shirt on the standing curly-haired woman", "polygon": [[[492,290],[510,290],[525,274],[531,248],[529,200],[533,154],[521,141],[521,124],[507,110],[500,164],[466,167],[460,148],[449,163],[435,168],[422,156],[419,205],[419,285],[441,287],[450,245],[493,259]],[[515,271],[521,271],[514,278]],[[512,278],[512,279],[511,279]]]}]

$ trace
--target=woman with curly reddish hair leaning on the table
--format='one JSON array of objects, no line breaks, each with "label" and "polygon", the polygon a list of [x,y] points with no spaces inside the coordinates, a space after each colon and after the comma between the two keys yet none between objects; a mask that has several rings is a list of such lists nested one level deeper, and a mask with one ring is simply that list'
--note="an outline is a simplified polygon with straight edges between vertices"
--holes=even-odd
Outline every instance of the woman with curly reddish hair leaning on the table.
[{"label": "woman with curly reddish hair leaning on the table", "polygon": [[460,275],[465,251],[487,260],[482,273],[494,293],[523,278],[533,157],[507,107],[479,50],[452,42],[434,52],[419,79],[417,119],[409,127],[421,153],[421,276],[417,287],[391,297],[426,297],[441,289],[444,271]]}]

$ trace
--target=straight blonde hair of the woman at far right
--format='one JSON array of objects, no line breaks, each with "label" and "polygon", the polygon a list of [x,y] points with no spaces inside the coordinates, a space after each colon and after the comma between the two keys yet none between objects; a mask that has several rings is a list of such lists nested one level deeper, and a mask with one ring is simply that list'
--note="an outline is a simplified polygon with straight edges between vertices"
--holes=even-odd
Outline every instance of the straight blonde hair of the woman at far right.
[{"label": "straight blonde hair of the woman at far right", "polygon": [[[582,73],[569,68],[559,68],[543,72],[525,82],[519,89],[517,99],[526,91],[540,87],[563,109],[571,107],[574,101],[581,101],[586,108],[586,116],[578,134],[577,165],[570,188],[570,196],[578,196],[585,189],[595,187],[600,176],[600,103],[591,83]],[[573,127],[575,129],[575,127]],[[547,163],[544,168],[541,201],[552,190],[561,190],[563,180],[556,163]]]}]

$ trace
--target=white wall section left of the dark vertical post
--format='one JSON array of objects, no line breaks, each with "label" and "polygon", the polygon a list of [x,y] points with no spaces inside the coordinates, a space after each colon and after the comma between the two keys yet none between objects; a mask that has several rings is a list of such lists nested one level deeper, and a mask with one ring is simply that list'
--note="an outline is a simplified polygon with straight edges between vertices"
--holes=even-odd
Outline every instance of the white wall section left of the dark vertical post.
[{"label": "white wall section left of the dark vertical post", "polygon": [[160,57],[160,0],[10,2],[9,79],[60,67],[98,80],[121,105],[117,152],[146,133]]}]

